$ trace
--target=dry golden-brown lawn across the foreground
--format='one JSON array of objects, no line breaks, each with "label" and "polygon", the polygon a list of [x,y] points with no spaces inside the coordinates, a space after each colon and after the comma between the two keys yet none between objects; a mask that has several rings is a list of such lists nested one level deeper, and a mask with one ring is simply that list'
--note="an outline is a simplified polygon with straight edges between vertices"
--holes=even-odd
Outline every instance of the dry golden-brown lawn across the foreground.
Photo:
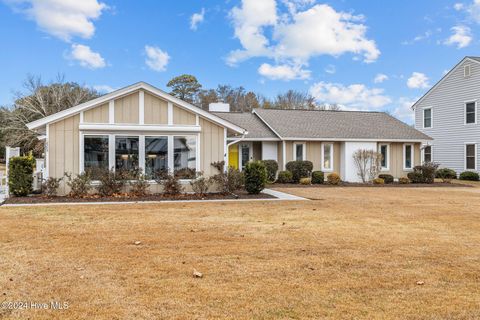
[{"label": "dry golden-brown lawn across the foreground", "polygon": [[480,189],[288,191],[318,200],[0,207],[0,301],[70,306],[0,318],[480,317]]}]

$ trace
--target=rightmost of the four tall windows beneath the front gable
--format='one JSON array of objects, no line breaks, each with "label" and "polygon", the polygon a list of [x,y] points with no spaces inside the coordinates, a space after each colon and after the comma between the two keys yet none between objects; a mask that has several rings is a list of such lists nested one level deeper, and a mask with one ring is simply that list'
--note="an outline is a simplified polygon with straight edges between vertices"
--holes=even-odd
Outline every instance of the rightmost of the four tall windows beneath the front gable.
[{"label": "rightmost of the four tall windows beneath the front gable", "polygon": [[197,168],[197,137],[174,137],[173,164],[180,179],[193,179]]}]

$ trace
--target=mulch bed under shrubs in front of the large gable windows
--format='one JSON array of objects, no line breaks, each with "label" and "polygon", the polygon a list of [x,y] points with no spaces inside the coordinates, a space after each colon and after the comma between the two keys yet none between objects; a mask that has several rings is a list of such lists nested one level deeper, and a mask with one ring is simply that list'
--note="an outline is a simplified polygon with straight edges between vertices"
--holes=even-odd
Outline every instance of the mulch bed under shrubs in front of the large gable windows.
[{"label": "mulch bed under shrubs in front of the large gable windows", "polygon": [[42,195],[32,195],[29,197],[10,197],[5,200],[5,204],[34,204],[34,203],[69,203],[69,202],[142,202],[142,201],[162,201],[162,200],[231,200],[231,199],[274,199],[269,194],[248,194],[245,191],[239,191],[235,195],[223,193],[209,193],[204,196],[196,194],[150,194],[145,197],[129,197],[127,195],[118,195],[113,197],[100,197],[92,195],[85,198],[71,198],[67,196],[45,197]]}]

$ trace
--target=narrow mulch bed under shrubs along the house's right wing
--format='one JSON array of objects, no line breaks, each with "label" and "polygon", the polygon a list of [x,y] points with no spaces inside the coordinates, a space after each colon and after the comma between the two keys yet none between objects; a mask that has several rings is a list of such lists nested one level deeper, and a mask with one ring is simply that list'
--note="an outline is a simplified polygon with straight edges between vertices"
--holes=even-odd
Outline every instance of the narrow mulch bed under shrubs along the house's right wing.
[{"label": "narrow mulch bed under shrubs along the house's right wing", "polygon": [[302,185],[302,184],[289,184],[289,183],[275,183],[269,185],[268,188],[338,188],[338,187],[347,187],[347,188],[472,188],[470,185],[465,184],[457,184],[457,183],[442,183],[442,182],[435,182],[435,183],[408,183],[408,184],[400,184],[398,182],[389,183],[389,184],[373,184],[373,183],[350,183],[350,182],[342,182],[339,185],[331,185],[328,183],[325,184],[311,184],[311,185]]}]

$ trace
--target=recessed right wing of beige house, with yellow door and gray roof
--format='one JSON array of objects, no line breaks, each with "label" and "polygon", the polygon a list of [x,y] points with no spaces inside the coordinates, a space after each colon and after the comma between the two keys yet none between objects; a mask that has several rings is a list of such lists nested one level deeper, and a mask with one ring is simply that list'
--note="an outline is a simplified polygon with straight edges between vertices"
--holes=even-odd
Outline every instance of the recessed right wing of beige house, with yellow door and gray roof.
[{"label": "recessed right wing of beige house, with yellow door and gray roof", "polygon": [[432,140],[384,112],[255,109],[235,113],[228,112],[228,106],[213,107],[213,114],[248,131],[244,139],[229,143],[228,163],[240,170],[250,160],[276,160],[280,170],[289,161],[309,160],[314,170],[337,172],[343,181],[358,182],[353,154],[367,149],[380,152],[382,173],[398,179],[421,164],[420,146]]}]

